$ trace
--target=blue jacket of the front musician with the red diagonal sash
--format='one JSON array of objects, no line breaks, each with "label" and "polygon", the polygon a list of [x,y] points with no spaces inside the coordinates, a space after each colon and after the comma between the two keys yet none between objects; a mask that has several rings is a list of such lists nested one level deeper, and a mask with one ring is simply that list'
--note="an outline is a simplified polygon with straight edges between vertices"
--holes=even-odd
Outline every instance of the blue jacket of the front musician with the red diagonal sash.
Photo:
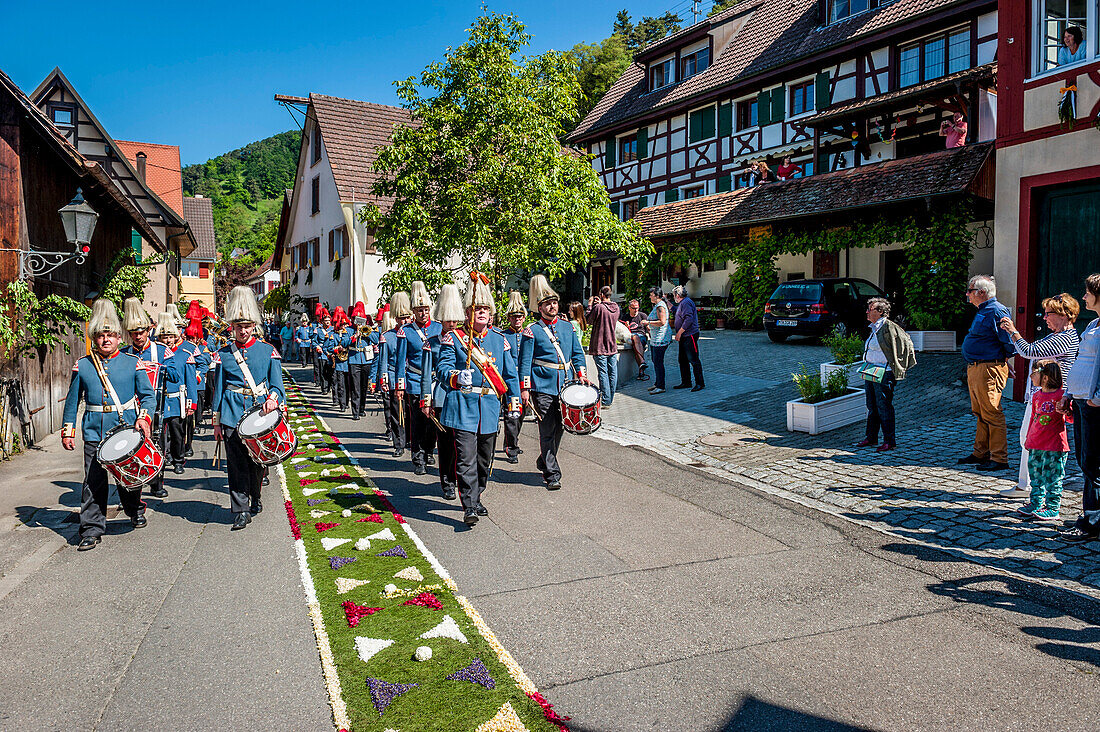
[{"label": "blue jacket of the front musician with the red diagonal sash", "polygon": [[[518,412],[519,373],[516,371],[515,359],[508,353],[512,350],[508,340],[499,330],[488,328],[481,338],[474,336],[474,342],[488,353],[492,363],[504,376],[504,383],[508,387],[506,394],[508,407]],[[475,367],[471,367],[472,384],[459,386],[458,373],[465,368],[466,349],[454,337],[454,331],[450,331],[443,336],[439,348],[440,381],[447,390],[439,422],[451,429],[492,435],[501,428],[501,400]],[[488,393],[482,393],[485,390]]]}]

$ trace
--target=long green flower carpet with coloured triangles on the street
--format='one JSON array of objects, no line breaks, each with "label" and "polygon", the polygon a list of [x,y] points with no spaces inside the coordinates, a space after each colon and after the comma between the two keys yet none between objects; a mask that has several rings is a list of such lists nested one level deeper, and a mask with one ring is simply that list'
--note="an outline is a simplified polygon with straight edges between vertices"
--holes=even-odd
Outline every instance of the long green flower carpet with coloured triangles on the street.
[{"label": "long green flower carpet with coloured triangles on the street", "polygon": [[413,527],[286,383],[299,447],[279,472],[336,728],[565,730]]}]

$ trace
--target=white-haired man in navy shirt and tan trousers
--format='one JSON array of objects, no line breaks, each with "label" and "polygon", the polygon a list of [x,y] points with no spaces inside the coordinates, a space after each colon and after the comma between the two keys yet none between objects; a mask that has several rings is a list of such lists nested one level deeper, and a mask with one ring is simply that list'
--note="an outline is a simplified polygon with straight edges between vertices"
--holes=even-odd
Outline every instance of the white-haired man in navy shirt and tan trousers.
[{"label": "white-haired man in navy shirt and tan trousers", "polygon": [[1009,467],[1009,438],[1004,425],[1001,394],[1009,380],[1009,357],[1014,352],[1012,338],[998,324],[1011,318],[1009,308],[997,302],[997,282],[979,274],[966,286],[967,302],[978,308],[970,330],[963,339],[966,383],[970,391],[970,411],[975,427],[974,451],[959,458],[959,465],[976,465],[978,470],[1004,470]]}]

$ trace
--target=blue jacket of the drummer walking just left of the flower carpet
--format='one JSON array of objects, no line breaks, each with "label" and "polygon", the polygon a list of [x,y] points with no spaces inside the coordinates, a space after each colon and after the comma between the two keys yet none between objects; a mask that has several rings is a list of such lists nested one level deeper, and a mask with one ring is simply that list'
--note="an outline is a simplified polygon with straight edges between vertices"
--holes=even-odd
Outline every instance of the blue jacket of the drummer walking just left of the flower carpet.
[{"label": "blue jacket of the drummer walking just left of the flower carpet", "polygon": [[[275,347],[253,338],[239,348],[260,391],[263,392],[266,387],[270,393],[275,394],[275,398],[280,405],[285,405],[283,360]],[[249,382],[244,380],[244,372],[241,371],[237,359],[233,358],[232,345],[218,351],[218,368],[215,369],[213,374],[211,409],[215,419],[223,426],[237,427],[244,413],[262,403],[265,397],[261,396],[256,400],[249,391]]]}]

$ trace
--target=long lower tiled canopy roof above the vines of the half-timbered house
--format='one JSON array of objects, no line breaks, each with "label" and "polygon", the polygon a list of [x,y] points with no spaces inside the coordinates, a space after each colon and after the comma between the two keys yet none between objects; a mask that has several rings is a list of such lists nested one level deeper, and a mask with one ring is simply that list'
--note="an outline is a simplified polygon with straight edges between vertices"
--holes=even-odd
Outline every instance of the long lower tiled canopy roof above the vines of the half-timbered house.
[{"label": "long lower tiled canopy roof above the vines of the half-timbered house", "polygon": [[796,219],[966,190],[990,156],[983,142],[638,211],[651,239]]}]

